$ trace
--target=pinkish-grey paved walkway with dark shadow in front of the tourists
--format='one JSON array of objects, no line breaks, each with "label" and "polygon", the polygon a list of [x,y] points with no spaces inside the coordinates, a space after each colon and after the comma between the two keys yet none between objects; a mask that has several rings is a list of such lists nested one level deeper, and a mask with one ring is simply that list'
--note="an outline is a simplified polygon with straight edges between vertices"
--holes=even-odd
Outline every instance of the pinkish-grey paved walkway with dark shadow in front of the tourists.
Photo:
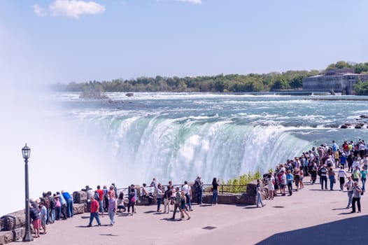
[{"label": "pinkish-grey paved walkway with dark shadow in front of the tourists", "polygon": [[[304,181],[309,181],[309,177]],[[337,183],[338,184],[338,183]],[[109,227],[108,216],[101,227],[87,228],[89,214],[81,214],[48,225],[48,234],[32,244],[342,244],[365,242],[368,201],[362,196],[362,213],[345,209],[347,193],[320,190],[304,184],[291,197],[266,200],[266,207],[194,205],[190,221],[171,221],[171,214],[155,213],[155,206],[138,207],[134,216],[118,214]],[[335,185],[335,187],[337,187]],[[162,207],[163,209],[163,207]],[[177,214],[179,217],[179,214]],[[94,221],[94,225],[96,225]],[[211,226],[212,230],[205,227]]]}]

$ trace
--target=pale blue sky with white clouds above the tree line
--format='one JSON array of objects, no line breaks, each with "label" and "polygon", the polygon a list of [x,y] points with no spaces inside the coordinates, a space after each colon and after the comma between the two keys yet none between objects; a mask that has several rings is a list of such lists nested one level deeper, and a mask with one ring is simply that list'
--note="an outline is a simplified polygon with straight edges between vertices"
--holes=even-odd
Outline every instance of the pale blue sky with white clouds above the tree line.
[{"label": "pale blue sky with white clouds above the tree line", "polygon": [[69,83],[368,62],[368,1],[0,0],[0,80]]}]

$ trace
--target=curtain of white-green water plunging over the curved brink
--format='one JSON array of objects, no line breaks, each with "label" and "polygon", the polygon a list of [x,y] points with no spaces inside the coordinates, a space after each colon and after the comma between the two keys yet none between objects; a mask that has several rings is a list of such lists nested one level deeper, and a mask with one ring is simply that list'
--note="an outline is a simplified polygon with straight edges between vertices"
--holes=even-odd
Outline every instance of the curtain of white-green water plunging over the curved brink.
[{"label": "curtain of white-green water plunging over the curved brink", "polygon": [[[87,122],[86,122],[87,120]],[[219,118],[136,116],[83,118],[89,141],[111,152],[115,178],[141,184],[153,177],[162,183],[213,177],[227,181],[248,172],[267,172],[311,148],[282,126],[251,126]],[[97,134],[97,132],[100,132]]]}]

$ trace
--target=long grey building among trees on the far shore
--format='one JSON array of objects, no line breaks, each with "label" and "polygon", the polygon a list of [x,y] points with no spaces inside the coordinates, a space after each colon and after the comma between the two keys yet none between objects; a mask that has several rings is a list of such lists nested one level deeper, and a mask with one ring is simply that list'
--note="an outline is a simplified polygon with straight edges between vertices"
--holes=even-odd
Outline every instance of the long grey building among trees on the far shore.
[{"label": "long grey building among trees on the far shore", "polygon": [[303,78],[303,90],[331,91],[354,94],[354,85],[360,79],[368,80],[368,74],[354,73],[355,69],[327,69],[324,75]]}]

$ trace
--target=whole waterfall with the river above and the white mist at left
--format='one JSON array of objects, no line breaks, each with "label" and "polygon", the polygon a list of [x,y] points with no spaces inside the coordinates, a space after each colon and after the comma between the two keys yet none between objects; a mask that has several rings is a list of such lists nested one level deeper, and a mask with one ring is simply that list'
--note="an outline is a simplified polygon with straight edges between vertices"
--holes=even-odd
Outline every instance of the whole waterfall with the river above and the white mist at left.
[{"label": "whole waterfall with the river above and the white mist at left", "polygon": [[121,188],[153,177],[164,184],[197,175],[205,183],[227,181],[267,172],[332,140],[368,140],[367,129],[340,128],[364,123],[360,115],[368,115],[368,103],[355,100],[170,92],[112,92],[106,93],[110,100],[84,100],[62,92],[35,102],[14,95],[3,104],[0,179],[1,186],[11,183],[13,202],[2,202],[1,214],[24,208],[20,149],[26,142],[30,197],[38,198],[48,190]]}]

